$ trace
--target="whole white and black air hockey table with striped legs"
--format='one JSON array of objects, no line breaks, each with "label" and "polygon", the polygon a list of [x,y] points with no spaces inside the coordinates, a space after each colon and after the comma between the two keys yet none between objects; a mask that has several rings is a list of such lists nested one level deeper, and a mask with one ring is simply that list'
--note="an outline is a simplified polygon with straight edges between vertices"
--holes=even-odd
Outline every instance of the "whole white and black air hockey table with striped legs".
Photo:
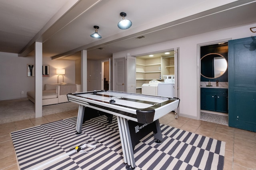
[{"label": "whole white and black air hockey table with striped legs", "polygon": [[131,123],[139,124],[135,125],[134,134],[139,132],[141,127],[152,125],[155,142],[162,143],[163,138],[158,119],[178,108],[180,102],[178,98],[110,90],[72,93],[67,94],[67,97],[68,101],[79,104],[76,122],[77,134],[82,132],[83,118],[86,114],[84,113],[85,107],[116,115],[126,169],[136,167],[133,152],[134,139],[131,137],[132,131],[129,125]]}]

